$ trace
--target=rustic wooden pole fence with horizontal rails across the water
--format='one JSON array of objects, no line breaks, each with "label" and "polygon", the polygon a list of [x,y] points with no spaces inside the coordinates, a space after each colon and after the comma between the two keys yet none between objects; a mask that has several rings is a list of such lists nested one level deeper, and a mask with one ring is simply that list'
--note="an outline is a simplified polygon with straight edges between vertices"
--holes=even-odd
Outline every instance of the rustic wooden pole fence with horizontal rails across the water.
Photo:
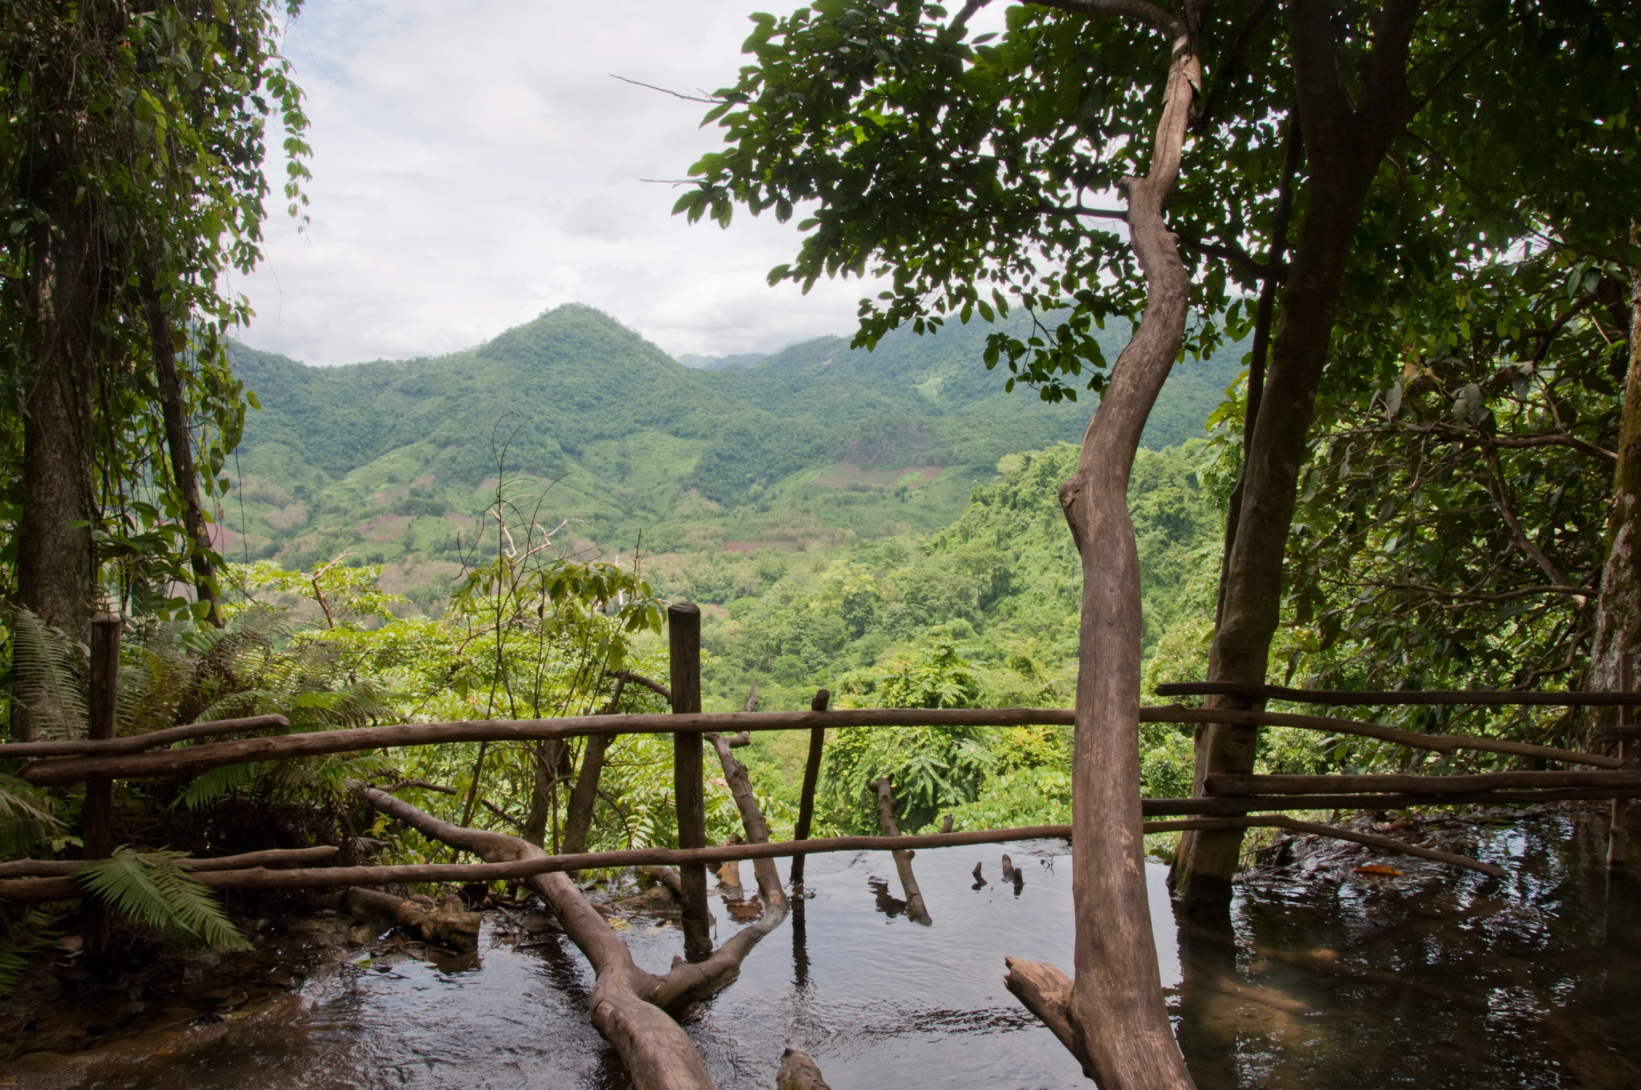
[{"label": "rustic wooden pole fence with horizontal rails across the water", "polygon": [[[561,719],[486,719],[455,722],[389,724],[345,730],[312,730],[299,734],[259,734],[287,729],[279,716],[256,716],[218,722],[189,724],[135,737],[113,735],[115,670],[118,668],[118,619],[100,617],[92,642],[92,730],[80,740],[15,742],[0,745],[0,760],[28,758],[20,776],[36,786],[87,785],[85,845],[87,859],[112,849],[112,785],[115,780],[199,775],[223,765],[240,765],[325,753],[386,750],[409,745],[496,740],[550,740],[573,737],[612,737],[620,734],[673,735],[673,786],[678,808],[678,849],[632,849],[624,852],[576,852],[530,862],[545,873],[589,867],[622,867],[670,863],[679,868],[686,946],[694,949],[706,939],[706,867],[727,859],[791,857],[791,880],[802,882],[802,860],[816,852],[940,847],[957,844],[1011,842],[1037,837],[1070,837],[1070,827],[980,829],[921,837],[830,837],[811,840],[814,799],[819,781],[825,732],[848,727],[971,726],[1008,727],[1073,722],[1072,709],[1003,708],[1003,709],[827,709],[827,693],[817,693],[809,711],[793,712],[714,712],[701,711],[701,612],[691,604],[674,604],[668,611],[670,686],[642,680],[663,693],[673,704],[670,714],[571,716]],[[1434,704],[1434,706],[1618,706],[1620,727],[1608,737],[1620,740],[1620,753],[1533,745],[1505,739],[1457,734],[1419,734],[1382,724],[1270,711],[1227,708],[1188,708],[1162,704],[1140,708],[1140,722],[1283,726],[1331,735],[1378,739],[1395,745],[1433,752],[1495,752],[1543,762],[1580,765],[1587,772],[1495,772],[1459,776],[1442,775],[1209,775],[1200,798],[1147,798],[1137,818],[1188,818],[1190,822],[1150,822],[1147,831],[1180,827],[1247,827],[1280,824],[1273,818],[1250,818],[1255,813],[1326,811],[1326,809],[1401,809],[1408,806],[1447,804],[1538,804],[1564,799],[1613,799],[1611,849],[1613,865],[1625,859],[1623,814],[1626,801],[1641,796],[1641,768],[1634,760],[1636,735],[1631,708],[1641,704],[1641,693],[1508,693],[1508,691],[1383,691],[1349,693],[1291,689],[1282,686],[1249,686],[1229,683],[1193,683],[1157,686],[1159,696],[1236,696],[1249,701],[1290,701],[1326,706],[1364,704]],[[107,696],[107,698],[105,698]],[[702,783],[702,735],[747,734],[752,730],[809,730],[809,755],[799,795],[794,839],[765,844],[755,850],[707,847],[706,790]],[[253,734],[258,737],[233,737]],[[187,744],[172,749],[177,744]],[[1293,826],[1293,819],[1282,819]],[[1198,822],[1198,824],[1191,824]],[[1201,824],[1209,822],[1209,824]],[[1211,822],[1221,822],[1214,826]],[[1308,824],[1308,822],[1301,822]],[[1316,826],[1328,836],[1342,831]],[[1349,837],[1347,837],[1349,839]],[[1383,837],[1380,837],[1383,839]],[[1408,850],[1387,840],[1387,850]],[[1418,852],[1415,852],[1418,854]],[[1428,852],[1426,852],[1428,854]],[[1436,854],[1447,862],[1460,862],[1475,870],[1487,865],[1462,857]],[[23,860],[26,865],[30,860]],[[517,877],[496,870],[505,865],[435,863],[422,867],[318,867],[287,872],[258,867],[210,870],[202,882],[217,888],[295,888],[299,885],[387,885],[402,882],[478,882],[484,875]],[[292,859],[292,862],[295,862]],[[26,877],[16,865],[0,880],[0,896],[11,900],[44,900],[48,891],[59,896],[69,890],[67,875],[39,863]],[[491,867],[491,870],[484,870]],[[49,885],[48,885],[49,883]]]}]

